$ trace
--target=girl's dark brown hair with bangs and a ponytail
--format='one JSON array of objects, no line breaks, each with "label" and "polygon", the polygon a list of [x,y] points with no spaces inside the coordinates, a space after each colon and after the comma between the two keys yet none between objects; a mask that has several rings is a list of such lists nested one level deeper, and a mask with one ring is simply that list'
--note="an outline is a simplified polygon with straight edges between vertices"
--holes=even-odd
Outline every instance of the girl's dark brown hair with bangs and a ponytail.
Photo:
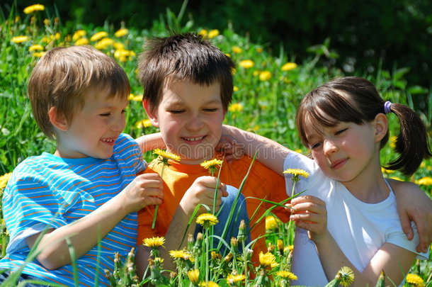
[{"label": "girl's dark brown hair with bangs and a ponytail", "polygon": [[[297,109],[296,125],[305,146],[309,142],[305,125],[333,127],[339,122],[358,125],[375,119],[378,113],[385,113],[385,101],[372,82],[360,77],[334,79],[310,91],[302,99]],[[399,157],[387,164],[386,169],[400,170],[411,175],[419,168],[421,161],[432,156],[428,145],[426,127],[421,118],[411,108],[392,103],[391,111],[400,122],[394,150]],[[318,130],[317,130],[318,131]],[[388,131],[380,142],[380,147],[389,140]]]}]

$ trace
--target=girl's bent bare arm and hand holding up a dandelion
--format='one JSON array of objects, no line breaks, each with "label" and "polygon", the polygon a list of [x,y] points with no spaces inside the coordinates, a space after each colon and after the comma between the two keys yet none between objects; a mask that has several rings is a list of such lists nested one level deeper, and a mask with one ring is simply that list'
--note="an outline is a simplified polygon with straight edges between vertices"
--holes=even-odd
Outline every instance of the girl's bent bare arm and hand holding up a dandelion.
[{"label": "girl's bent bare arm and hand holding up a dandelion", "polygon": [[[359,271],[346,258],[327,230],[324,201],[314,196],[300,196],[294,198],[291,204],[295,210],[291,219],[295,220],[297,227],[308,230],[309,238],[317,247],[328,280],[334,278],[341,267],[348,266],[354,272],[353,286],[375,286],[382,270],[386,277],[391,278],[394,283],[399,283],[402,282],[404,274],[407,274],[416,257],[416,254],[407,249],[385,243],[369,261],[368,266],[363,271]],[[391,285],[390,281],[387,281],[386,285]]]}]

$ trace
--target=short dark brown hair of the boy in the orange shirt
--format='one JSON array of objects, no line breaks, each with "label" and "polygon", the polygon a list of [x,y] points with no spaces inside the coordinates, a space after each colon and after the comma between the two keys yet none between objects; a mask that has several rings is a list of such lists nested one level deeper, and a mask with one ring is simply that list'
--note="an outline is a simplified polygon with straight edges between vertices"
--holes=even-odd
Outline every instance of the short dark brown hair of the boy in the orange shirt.
[{"label": "short dark brown hair of the boy in the orange shirt", "polygon": [[150,108],[159,105],[167,79],[207,86],[218,81],[226,111],[232,99],[234,67],[231,58],[210,41],[198,34],[184,33],[147,40],[138,58],[138,79]]}]

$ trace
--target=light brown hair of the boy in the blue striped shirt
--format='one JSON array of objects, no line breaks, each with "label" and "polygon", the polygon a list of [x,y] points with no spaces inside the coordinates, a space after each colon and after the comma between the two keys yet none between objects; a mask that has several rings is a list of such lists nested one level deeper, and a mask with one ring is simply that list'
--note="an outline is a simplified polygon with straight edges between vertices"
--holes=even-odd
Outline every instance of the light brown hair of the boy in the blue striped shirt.
[{"label": "light brown hair of the boy in the blue striped shirt", "polygon": [[[91,46],[56,47],[35,65],[28,83],[33,116],[47,137],[55,138],[48,111],[56,107],[67,122],[84,106],[86,92],[92,88],[108,96],[127,97],[127,75],[113,58]],[[79,111],[79,110],[78,110]]]}]

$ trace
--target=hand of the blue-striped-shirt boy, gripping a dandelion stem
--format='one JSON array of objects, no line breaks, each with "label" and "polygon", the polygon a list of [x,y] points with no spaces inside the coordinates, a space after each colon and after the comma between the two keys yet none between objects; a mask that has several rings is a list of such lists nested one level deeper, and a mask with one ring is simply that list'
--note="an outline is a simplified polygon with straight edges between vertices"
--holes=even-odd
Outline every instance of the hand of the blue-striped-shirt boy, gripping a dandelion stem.
[{"label": "hand of the blue-striped-shirt boy, gripping a dandelion stem", "polygon": [[159,174],[140,174],[119,194],[129,213],[146,206],[161,204],[164,185]]}]

